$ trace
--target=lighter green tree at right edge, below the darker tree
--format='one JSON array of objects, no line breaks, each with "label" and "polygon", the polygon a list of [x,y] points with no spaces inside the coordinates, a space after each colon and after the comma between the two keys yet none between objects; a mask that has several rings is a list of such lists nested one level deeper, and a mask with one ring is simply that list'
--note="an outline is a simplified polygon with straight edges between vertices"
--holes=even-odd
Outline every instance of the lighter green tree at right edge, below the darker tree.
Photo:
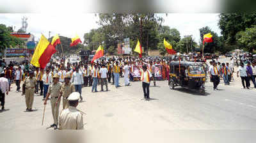
[{"label": "lighter green tree at right edge, below the darker tree", "polygon": [[256,47],[256,26],[246,28],[245,31],[240,31],[236,34],[236,40],[240,47],[244,50],[253,52]]}]

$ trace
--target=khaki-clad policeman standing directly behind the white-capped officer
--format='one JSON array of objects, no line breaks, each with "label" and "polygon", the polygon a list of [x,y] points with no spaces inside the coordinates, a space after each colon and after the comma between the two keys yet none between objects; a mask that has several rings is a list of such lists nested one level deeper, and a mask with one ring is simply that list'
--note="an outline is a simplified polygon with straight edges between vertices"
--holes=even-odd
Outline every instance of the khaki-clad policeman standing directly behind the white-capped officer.
[{"label": "khaki-clad policeman standing directly behind the white-capped officer", "polygon": [[57,106],[58,102],[60,102],[61,96],[63,96],[63,98],[62,98],[63,109],[67,109],[68,108],[68,100],[67,100],[68,96],[71,93],[75,92],[75,86],[74,86],[74,84],[72,84],[70,82],[70,79],[71,79],[70,75],[69,74],[66,75],[66,77],[64,78],[65,83],[62,84],[62,86],[61,86],[60,96],[58,97],[58,100],[56,102],[56,106]]}]

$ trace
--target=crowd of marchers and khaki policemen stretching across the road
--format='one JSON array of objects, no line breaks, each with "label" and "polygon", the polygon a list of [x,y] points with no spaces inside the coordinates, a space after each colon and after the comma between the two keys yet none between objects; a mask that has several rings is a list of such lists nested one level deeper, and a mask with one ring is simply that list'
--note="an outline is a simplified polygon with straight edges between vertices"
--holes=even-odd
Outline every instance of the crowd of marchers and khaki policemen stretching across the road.
[{"label": "crowd of marchers and khaki policemen stretching across the road", "polygon": [[[108,84],[115,85],[118,88],[120,87],[120,77],[124,77],[124,86],[131,86],[131,82],[141,80],[144,98],[149,100],[150,82],[152,81],[154,86],[156,86],[156,80],[168,80],[170,62],[179,60],[202,62],[205,74],[209,75],[214,90],[218,90],[218,84],[221,79],[223,79],[225,85],[230,85],[230,82],[234,80],[234,65],[236,63],[234,58],[231,58],[231,64],[212,60],[209,62],[209,65],[205,59],[181,59],[177,57],[143,57],[141,59],[138,57],[110,57],[94,62],[81,61],[73,64],[65,64],[65,61],[61,61],[61,63],[51,61],[45,68],[32,66],[29,64],[29,61],[24,61],[20,64],[13,64],[11,62],[8,66],[1,63],[1,107],[3,110],[4,93],[8,94],[12,82],[15,82],[16,92],[22,91],[21,94],[25,95],[26,111],[28,112],[33,111],[35,94],[42,96],[44,105],[50,99],[54,122],[51,126],[58,128],[60,123],[59,108],[61,97],[63,110],[69,109],[65,111],[65,114],[67,114],[71,110],[74,111],[74,107],[77,106],[79,100],[83,102],[83,87],[91,87],[92,92],[98,92],[98,85],[100,85],[101,92],[104,91],[104,87],[105,91],[109,91]],[[244,88],[250,88],[250,80],[252,80],[256,88],[255,62],[252,65],[250,61],[241,62],[237,70],[237,77],[239,75]],[[20,85],[21,83],[22,85]],[[71,100],[68,100],[72,93],[79,94],[79,98],[77,98],[76,94],[76,96],[70,98]],[[76,116],[79,116],[81,120],[81,114],[76,114]],[[81,125],[79,128],[82,128]]]}]

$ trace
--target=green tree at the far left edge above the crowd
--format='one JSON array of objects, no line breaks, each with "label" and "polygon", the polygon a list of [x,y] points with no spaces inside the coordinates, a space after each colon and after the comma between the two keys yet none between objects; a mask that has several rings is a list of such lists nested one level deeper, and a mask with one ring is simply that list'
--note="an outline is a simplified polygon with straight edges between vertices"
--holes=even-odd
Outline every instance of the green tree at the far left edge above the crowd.
[{"label": "green tree at the far left edge above the crowd", "polygon": [[0,24],[0,50],[6,48],[22,46],[24,41],[10,34],[10,29],[4,24]]}]

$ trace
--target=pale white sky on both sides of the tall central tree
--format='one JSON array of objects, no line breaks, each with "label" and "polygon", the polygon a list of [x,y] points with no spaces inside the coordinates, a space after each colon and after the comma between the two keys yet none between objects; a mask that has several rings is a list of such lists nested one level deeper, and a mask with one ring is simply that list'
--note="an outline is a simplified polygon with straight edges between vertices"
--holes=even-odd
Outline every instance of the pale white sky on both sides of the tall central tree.
[{"label": "pale white sky on both sides of the tall central tree", "polygon": [[[215,31],[220,36],[220,28],[218,27],[218,14],[206,14],[206,13],[193,13],[193,14],[179,14],[172,13],[159,14],[164,18],[163,25],[176,28],[180,31],[180,36],[193,35],[193,38],[198,43],[200,40],[199,29],[204,26],[209,26],[212,31]],[[28,17],[28,29],[27,32],[34,34],[36,40],[39,40],[41,33],[47,38],[49,31],[51,36],[60,34],[61,36],[67,36],[72,38],[78,34],[83,41],[83,34],[88,33],[91,29],[95,29],[98,26],[96,23],[98,18],[95,14],[67,14],[65,15],[50,15],[50,14],[0,14],[0,23],[6,26],[15,26],[15,31],[21,27],[22,17]]]}]

